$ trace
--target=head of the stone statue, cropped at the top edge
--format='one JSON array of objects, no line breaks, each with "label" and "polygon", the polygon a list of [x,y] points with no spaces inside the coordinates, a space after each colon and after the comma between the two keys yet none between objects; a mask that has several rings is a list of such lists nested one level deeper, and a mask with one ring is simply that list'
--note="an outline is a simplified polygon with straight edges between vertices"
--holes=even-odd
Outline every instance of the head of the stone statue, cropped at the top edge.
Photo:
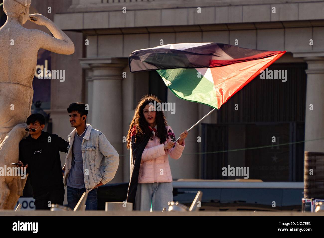
[{"label": "head of the stone statue, cropped at the top edge", "polygon": [[31,0],[4,0],[3,10],[7,17],[14,17],[25,24],[29,19],[29,6]]}]

